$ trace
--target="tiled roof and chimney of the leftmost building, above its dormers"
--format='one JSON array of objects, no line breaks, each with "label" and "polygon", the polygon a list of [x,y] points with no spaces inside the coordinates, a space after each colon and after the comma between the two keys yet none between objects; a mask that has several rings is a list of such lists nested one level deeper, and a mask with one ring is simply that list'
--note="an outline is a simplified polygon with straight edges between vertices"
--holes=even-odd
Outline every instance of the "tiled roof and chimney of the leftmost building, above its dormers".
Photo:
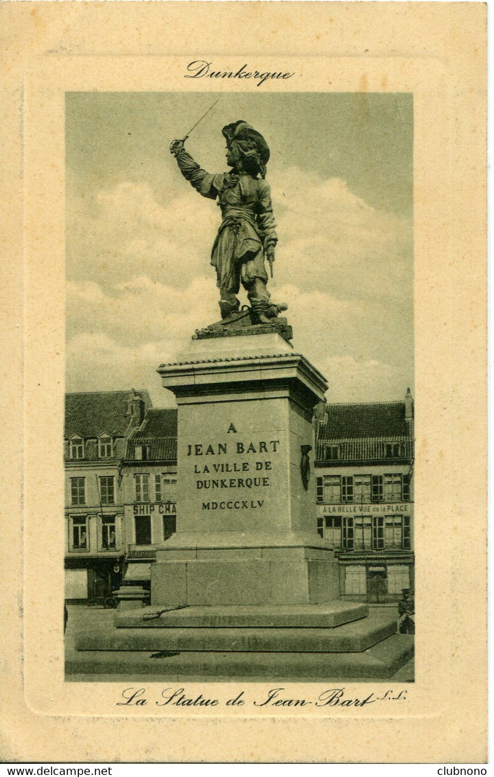
[{"label": "tiled roof and chimney of the leftmost building, above its dormers", "polygon": [[137,392],[109,391],[82,392],[65,395],[65,437],[80,434],[85,439],[98,437],[103,432],[113,437],[124,437],[130,426],[129,400],[141,396],[144,406],[151,405],[146,389]]}]

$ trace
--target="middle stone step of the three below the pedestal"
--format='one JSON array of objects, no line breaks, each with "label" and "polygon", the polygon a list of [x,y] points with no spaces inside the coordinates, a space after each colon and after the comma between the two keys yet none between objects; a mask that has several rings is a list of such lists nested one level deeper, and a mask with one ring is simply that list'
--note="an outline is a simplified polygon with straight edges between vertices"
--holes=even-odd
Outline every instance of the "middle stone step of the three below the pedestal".
[{"label": "middle stone step of the three below the pedestal", "polygon": [[243,653],[362,652],[396,631],[395,618],[379,616],[336,629],[111,629],[78,636],[76,650],[228,651]]}]

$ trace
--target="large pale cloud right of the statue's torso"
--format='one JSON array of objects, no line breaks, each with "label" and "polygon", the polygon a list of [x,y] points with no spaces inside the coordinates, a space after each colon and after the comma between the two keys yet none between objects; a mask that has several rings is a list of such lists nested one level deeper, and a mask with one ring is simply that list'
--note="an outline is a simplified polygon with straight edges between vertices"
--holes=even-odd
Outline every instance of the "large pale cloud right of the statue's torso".
[{"label": "large pale cloud right of the statue's torso", "polygon": [[339,299],[409,300],[412,222],[354,195],[345,181],[288,169],[273,183],[279,272]]}]

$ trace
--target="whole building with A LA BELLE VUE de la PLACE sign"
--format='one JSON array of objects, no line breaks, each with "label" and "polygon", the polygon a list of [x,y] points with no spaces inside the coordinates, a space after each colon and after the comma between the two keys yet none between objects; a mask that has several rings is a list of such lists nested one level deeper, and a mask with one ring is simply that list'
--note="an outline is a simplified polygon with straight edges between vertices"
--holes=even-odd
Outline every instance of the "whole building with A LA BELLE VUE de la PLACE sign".
[{"label": "whole building with A LA BELLE VUE de la PLACE sign", "polygon": [[338,556],[340,594],[397,601],[414,587],[412,395],[328,405],[316,423],[318,532]]}]

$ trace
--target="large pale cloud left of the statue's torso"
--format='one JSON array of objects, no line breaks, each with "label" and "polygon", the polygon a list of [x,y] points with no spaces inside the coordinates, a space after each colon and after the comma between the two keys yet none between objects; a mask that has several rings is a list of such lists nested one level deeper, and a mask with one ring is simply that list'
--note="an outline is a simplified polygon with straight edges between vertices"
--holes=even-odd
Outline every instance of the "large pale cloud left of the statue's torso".
[{"label": "large pale cloud left of the statue's torso", "polygon": [[217,213],[210,200],[187,191],[183,183],[183,194],[165,204],[142,182],[72,193],[68,277],[106,286],[144,274],[184,287],[191,277],[207,274]]}]

